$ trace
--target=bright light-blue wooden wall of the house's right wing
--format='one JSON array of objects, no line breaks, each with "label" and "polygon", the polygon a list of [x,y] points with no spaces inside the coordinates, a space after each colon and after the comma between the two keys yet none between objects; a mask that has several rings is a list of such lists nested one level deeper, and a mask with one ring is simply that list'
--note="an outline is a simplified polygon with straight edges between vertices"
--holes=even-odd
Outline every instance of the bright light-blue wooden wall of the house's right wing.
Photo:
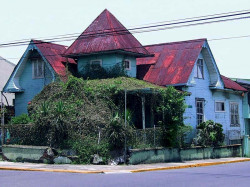
[{"label": "bright light-blue wooden wall of the house's right wing", "polygon": [[[190,92],[191,95],[185,98],[188,108],[184,113],[185,124],[191,125],[194,129],[197,125],[196,119],[196,98],[204,98],[204,120],[213,120],[223,125],[224,133],[226,135],[226,143],[229,143],[229,139],[240,139],[245,133],[244,118],[243,118],[243,97],[236,92],[229,92],[223,89],[210,89],[210,74],[206,65],[206,61],[202,54],[199,58],[204,60],[204,79],[197,79],[194,77],[195,69],[193,69],[190,78],[189,86],[184,88],[185,91]],[[195,66],[196,67],[196,64]],[[215,101],[225,102],[225,112],[215,112]],[[230,127],[230,102],[239,103],[240,114],[240,127]],[[195,131],[194,131],[195,133]],[[193,135],[194,135],[193,133]]]}]

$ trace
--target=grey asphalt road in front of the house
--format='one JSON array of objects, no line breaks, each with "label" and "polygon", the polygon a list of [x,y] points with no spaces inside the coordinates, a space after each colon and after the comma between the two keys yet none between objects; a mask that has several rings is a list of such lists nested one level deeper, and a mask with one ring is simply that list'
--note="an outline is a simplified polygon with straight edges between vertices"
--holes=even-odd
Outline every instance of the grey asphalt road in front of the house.
[{"label": "grey asphalt road in front of the house", "polygon": [[250,162],[120,174],[1,170],[0,186],[250,186]]}]

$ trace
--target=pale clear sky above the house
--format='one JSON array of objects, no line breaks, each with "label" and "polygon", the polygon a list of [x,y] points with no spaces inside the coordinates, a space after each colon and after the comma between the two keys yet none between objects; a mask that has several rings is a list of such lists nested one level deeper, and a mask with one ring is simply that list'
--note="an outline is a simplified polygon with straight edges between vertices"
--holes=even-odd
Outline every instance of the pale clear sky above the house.
[{"label": "pale clear sky above the house", "polygon": [[[0,44],[80,34],[105,8],[126,28],[250,9],[250,0],[0,0],[0,4]],[[250,78],[250,37],[211,40],[244,35],[250,35],[250,19],[134,34],[142,45],[207,38],[222,75]],[[26,48],[0,47],[0,56],[16,64]]]}]

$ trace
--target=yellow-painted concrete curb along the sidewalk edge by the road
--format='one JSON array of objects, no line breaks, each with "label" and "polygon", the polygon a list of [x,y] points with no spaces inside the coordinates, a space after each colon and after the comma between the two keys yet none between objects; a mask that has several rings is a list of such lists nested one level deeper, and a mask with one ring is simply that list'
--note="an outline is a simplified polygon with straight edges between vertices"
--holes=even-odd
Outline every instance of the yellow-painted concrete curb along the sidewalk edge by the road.
[{"label": "yellow-painted concrete curb along the sidewalk edge by the road", "polygon": [[146,172],[146,171],[160,171],[160,170],[170,170],[170,169],[184,169],[184,168],[213,166],[213,165],[230,164],[230,163],[237,163],[237,162],[248,162],[248,161],[250,161],[250,158],[232,160],[232,161],[204,162],[204,163],[197,163],[197,164],[187,164],[187,165],[182,165],[182,166],[169,166],[169,167],[146,168],[146,169],[135,169],[135,170],[87,171],[87,170],[65,170],[65,169],[34,169],[34,168],[20,168],[20,167],[0,167],[0,170],[64,172],[64,173],[83,173],[83,174],[117,174],[117,173],[139,173],[139,172]]}]

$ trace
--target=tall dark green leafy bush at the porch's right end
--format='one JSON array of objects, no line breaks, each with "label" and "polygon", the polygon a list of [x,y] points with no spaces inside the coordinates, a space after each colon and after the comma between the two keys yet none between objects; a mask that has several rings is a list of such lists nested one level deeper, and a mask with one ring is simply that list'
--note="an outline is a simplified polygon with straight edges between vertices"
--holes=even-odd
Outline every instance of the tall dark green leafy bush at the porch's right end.
[{"label": "tall dark green leafy bush at the porch's right end", "polygon": [[166,147],[180,147],[183,142],[183,114],[185,112],[184,96],[174,87],[161,89],[156,111],[159,116],[158,124],[162,129],[162,145]]}]

